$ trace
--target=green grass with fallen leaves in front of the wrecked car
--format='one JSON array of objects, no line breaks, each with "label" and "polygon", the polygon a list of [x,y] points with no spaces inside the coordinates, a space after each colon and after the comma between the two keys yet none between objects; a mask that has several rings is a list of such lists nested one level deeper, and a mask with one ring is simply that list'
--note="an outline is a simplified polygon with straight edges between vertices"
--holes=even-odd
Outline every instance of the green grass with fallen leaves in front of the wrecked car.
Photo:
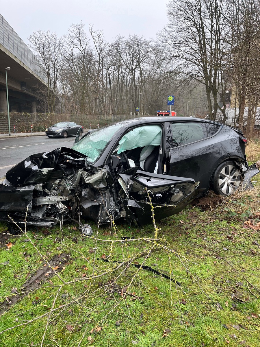
[{"label": "green grass with fallen leaves in front of the wrecked car", "polygon": [[[254,208],[257,209],[258,204],[260,210],[259,198],[257,200],[254,197],[253,203]],[[236,207],[232,202],[228,206],[230,210]],[[260,243],[259,231],[242,228],[243,220],[245,219],[241,219],[239,214],[229,216],[228,210],[224,211],[222,207],[211,212],[203,212],[189,206],[178,215],[158,222],[157,226],[161,228],[159,237],[164,235],[167,247],[181,257],[161,250],[151,254],[146,265],[168,274],[172,269],[176,280],[181,282],[181,288],[173,281],[146,270],[138,272],[129,288],[129,293],[134,292],[142,299],[131,300],[133,297],[130,295],[122,298],[118,293],[111,294],[108,291],[109,286],[103,285],[118,276],[119,271],[109,272],[93,281],[64,285],[57,296],[54,308],[69,304],[83,293],[88,292],[88,295],[85,301],[70,304],[65,309],[53,312],[43,346],[75,347],[82,338],[80,346],[98,347],[134,346],[132,341],[136,341],[137,346],[144,347],[235,347],[241,346],[242,341],[246,341],[244,346],[260,346],[260,318],[251,316],[252,313],[260,313],[260,292],[255,289],[260,289],[260,252],[259,247],[252,244],[254,240]],[[96,236],[97,226],[92,226],[93,236]],[[129,259],[149,247],[147,243],[138,241],[117,243],[111,249],[111,244],[83,238],[77,230],[69,227],[70,229],[64,226],[63,245],[55,241],[55,238],[61,237],[59,228],[50,229],[51,234],[48,236],[43,235],[41,231],[40,236],[36,236],[32,231],[28,232],[28,236],[45,259],[50,260],[55,254],[70,253],[71,260],[65,265],[64,270],[59,272],[65,281],[80,278],[84,273],[86,277],[91,276],[94,256],[95,273],[101,273],[114,265],[97,259],[102,254],[107,256],[111,253],[109,259],[118,261]],[[5,225],[1,224],[0,230],[5,228]],[[129,228],[126,224],[119,224],[118,228],[123,236],[132,238],[154,236],[152,225]],[[100,227],[98,237],[115,240],[116,236],[113,231],[110,236],[110,231],[109,226]],[[78,243],[73,242],[74,236],[77,237]],[[28,272],[33,274],[45,263],[33,245],[25,242],[25,239],[25,236],[13,239],[11,237],[13,246],[9,250],[7,247],[0,249],[0,301],[4,301],[5,297],[11,300],[11,289],[17,287],[19,293]],[[93,253],[94,248],[96,255]],[[141,264],[143,260],[142,257],[137,262]],[[1,264],[6,261],[9,261],[9,264]],[[136,271],[137,268],[130,265],[116,283],[121,287],[127,285]],[[254,288],[251,285],[247,286],[245,279]],[[30,292],[10,307],[1,317],[0,331],[49,312],[59,288],[55,286],[61,285],[58,277],[52,277],[51,281],[52,286],[49,282],[43,282],[41,288]],[[33,305],[35,297],[39,299]],[[112,299],[108,300],[109,297]],[[113,310],[116,303],[119,304]],[[218,311],[216,303],[219,303],[223,310]],[[235,310],[231,310],[232,304],[237,305]],[[109,313],[110,311],[112,312]],[[142,314],[143,317],[140,318]],[[248,316],[251,317],[250,320],[247,319]],[[40,346],[47,317],[1,334],[1,347],[31,345],[32,342],[34,346]],[[118,326],[115,324],[117,321],[122,323]],[[226,324],[228,329],[224,328],[223,324]],[[238,324],[241,324],[240,329],[234,329],[233,325]],[[72,325],[73,331],[70,332],[66,325]],[[102,330],[90,333],[96,326],[102,327]],[[166,337],[162,337],[164,329],[171,330]],[[88,336],[93,340],[88,341]]]}]

